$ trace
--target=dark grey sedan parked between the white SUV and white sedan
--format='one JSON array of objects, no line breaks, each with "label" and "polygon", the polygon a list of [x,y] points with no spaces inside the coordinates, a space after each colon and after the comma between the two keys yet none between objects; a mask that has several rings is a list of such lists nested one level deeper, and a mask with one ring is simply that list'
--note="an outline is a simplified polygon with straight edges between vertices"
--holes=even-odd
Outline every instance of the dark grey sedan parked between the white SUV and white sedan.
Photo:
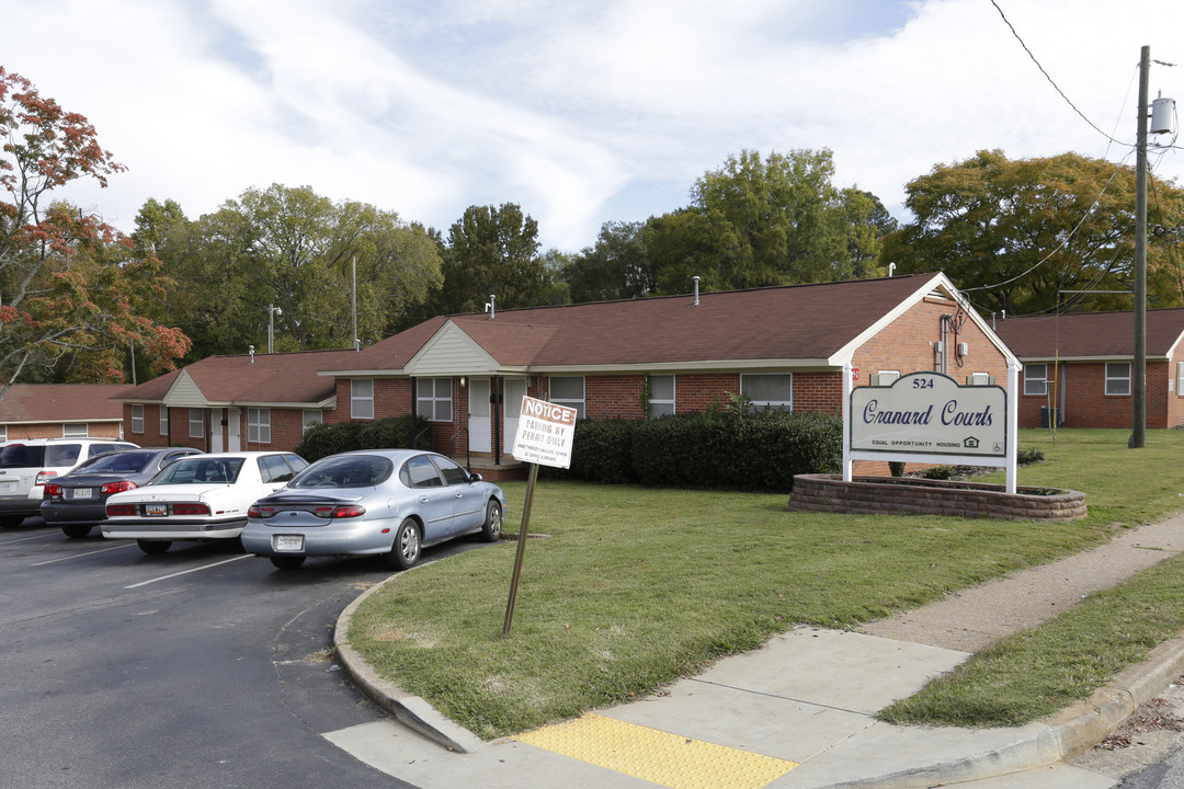
[{"label": "dark grey sedan parked between the white SUV and white sedan", "polygon": [[178,458],[201,454],[192,447],[153,447],[108,452],[84,461],[67,474],[45,483],[41,517],[66,537],[85,537],[107,519],[107,499],[135,490]]}]

